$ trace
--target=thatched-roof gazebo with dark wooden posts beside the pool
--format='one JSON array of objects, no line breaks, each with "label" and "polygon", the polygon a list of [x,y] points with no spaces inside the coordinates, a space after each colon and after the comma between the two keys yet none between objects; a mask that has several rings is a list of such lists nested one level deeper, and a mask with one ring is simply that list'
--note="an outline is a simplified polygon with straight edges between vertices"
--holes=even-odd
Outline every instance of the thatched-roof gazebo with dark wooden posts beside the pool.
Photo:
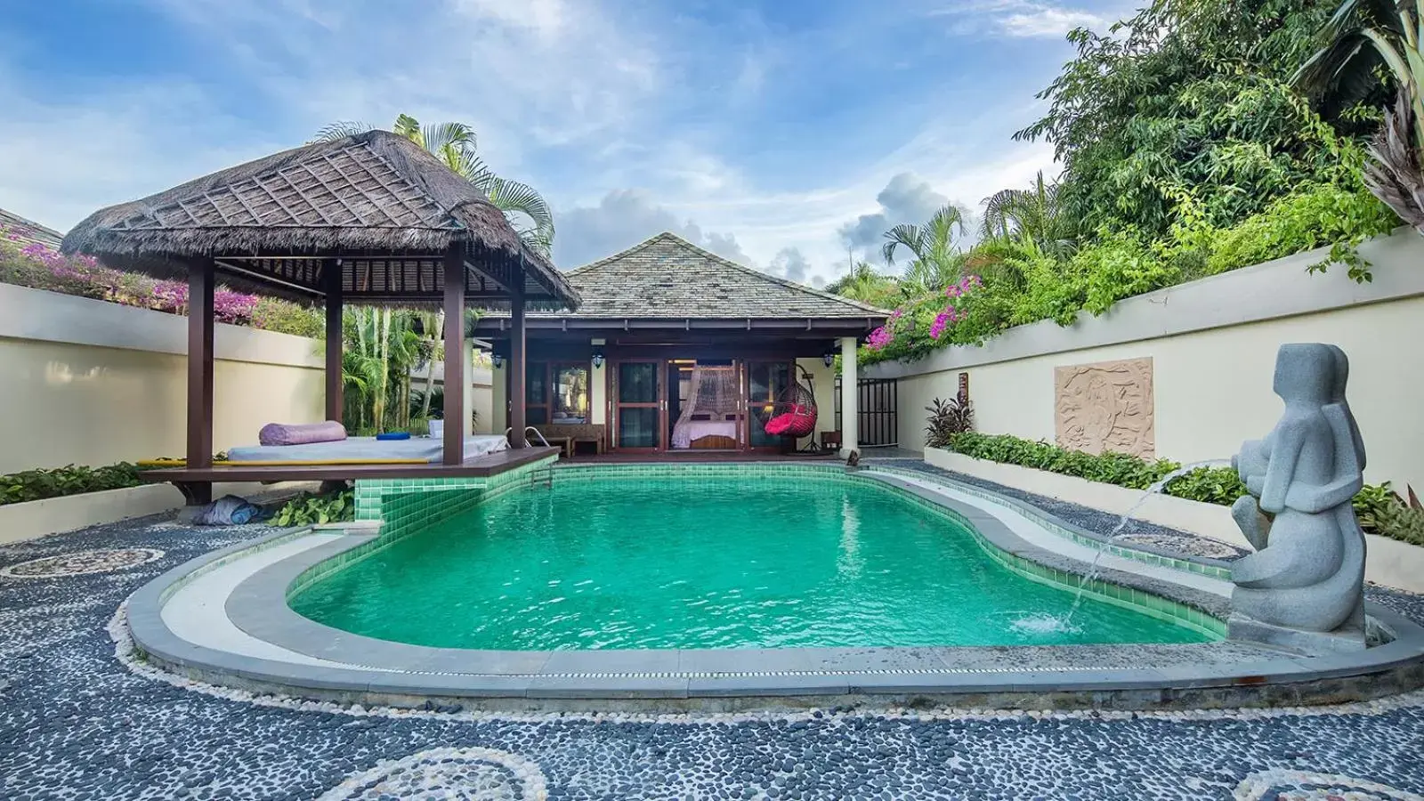
[{"label": "thatched-roof gazebo with dark wooden posts beside the pool", "polygon": [[[578,294],[525,245],[504,214],[414,143],[370,131],[231,167],[155,195],[100,210],[64,238],[64,252],[188,282],[188,479],[212,475],[212,298],[218,279],[326,305],[326,415],[342,415],[342,305],[467,302],[577,308]],[[447,386],[464,381],[463,326],[446,326]],[[523,386],[523,338],[511,369]],[[520,365],[515,365],[518,362]],[[517,393],[515,398],[523,398]],[[446,419],[463,415],[446,393]],[[523,403],[510,423],[523,432]],[[511,448],[523,448],[511,435]],[[463,462],[463,428],[446,426],[443,463]],[[168,470],[175,473],[175,470]],[[359,470],[350,470],[360,473]],[[225,479],[239,479],[232,470]]]}]

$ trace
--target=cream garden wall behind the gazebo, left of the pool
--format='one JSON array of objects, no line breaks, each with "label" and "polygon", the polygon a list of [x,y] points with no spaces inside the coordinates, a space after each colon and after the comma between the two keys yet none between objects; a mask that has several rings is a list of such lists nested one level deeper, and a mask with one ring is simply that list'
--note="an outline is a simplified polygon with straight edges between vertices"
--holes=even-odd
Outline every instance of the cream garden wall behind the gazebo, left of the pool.
[{"label": "cream garden wall behind the gazebo, left of the pool", "polygon": [[[188,319],[0,284],[0,473],[187,450]],[[319,342],[218,325],[214,448],[323,415]]]}]

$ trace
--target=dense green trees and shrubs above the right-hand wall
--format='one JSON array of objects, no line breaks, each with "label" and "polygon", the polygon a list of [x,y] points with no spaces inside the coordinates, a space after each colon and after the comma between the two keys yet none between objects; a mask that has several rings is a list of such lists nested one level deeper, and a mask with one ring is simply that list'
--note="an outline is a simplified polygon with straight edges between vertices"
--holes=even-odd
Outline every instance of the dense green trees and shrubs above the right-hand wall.
[{"label": "dense green trees and shrubs above the right-hand wall", "polygon": [[[984,198],[967,251],[936,237],[956,228],[948,215],[886,232],[886,255],[907,248],[913,269],[857,265],[829,286],[894,309],[863,358],[918,358],[1042,319],[1069,325],[1124,298],[1317,247],[1331,251],[1313,269],[1343,262],[1367,281],[1354,245],[1398,225],[1376,198],[1390,200],[1380,191],[1386,145],[1366,167],[1388,87],[1357,76],[1349,97],[1327,100],[1293,83],[1334,10],[1320,0],[1155,0],[1105,34],[1069,34],[1078,57],[1040,94],[1044,118],[1017,134],[1051,143],[1062,172]],[[1397,41],[1417,43],[1411,36]],[[1388,153],[1413,141],[1390,135]],[[1413,202],[1424,181],[1410,182],[1413,145],[1405,155],[1414,161],[1393,157],[1405,167],[1390,185]]]}]

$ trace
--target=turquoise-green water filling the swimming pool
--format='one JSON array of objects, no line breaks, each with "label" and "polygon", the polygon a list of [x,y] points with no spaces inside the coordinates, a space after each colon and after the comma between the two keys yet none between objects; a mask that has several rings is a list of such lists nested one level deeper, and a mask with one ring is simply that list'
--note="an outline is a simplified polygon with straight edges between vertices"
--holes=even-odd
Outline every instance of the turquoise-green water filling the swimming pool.
[{"label": "turquoise-green water filling the swimming pool", "polygon": [[[735,648],[1210,637],[1000,566],[947,515],[846,479],[555,480],[406,536],[290,599],[420,646]],[[1041,627],[1038,627],[1041,629]]]}]

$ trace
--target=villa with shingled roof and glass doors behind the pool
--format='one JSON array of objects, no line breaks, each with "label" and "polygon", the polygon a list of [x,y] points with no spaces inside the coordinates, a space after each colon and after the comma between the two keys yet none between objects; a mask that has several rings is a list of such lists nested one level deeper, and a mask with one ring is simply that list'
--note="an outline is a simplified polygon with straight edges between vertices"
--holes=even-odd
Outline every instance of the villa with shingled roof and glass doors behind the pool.
[{"label": "villa with shingled roof and glass doors behind the pool", "polygon": [[[799,445],[854,443],[856,415],[837,426],[836,371],[854,409],[856,345],[886,312],[802,286],[664,232],[564,274],[577,311],[530,312],[524,381],[513,375],[510,316],[476,324],[494,343],[491,428],[507,428],[510,388],[524,385],[538,429],[597,426],[614,452],[775,450],[773,405],[793,383],[819,408]],[[827,432],[846,429],[840,442]],[[533,436],[533,435],[531,435]]]}]

